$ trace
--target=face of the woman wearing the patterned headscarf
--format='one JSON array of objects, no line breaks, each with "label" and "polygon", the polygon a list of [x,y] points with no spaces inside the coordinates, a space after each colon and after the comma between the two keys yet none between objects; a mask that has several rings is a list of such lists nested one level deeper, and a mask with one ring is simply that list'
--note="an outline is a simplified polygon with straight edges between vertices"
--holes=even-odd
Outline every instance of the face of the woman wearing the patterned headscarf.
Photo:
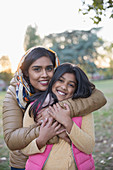
[{"label": "face of the woman wearing the patterned headscarf", "polygon": [[28,76],[35,92],[47,89],[53,73],[53,63],[49,57],[43,56],[30,65]]}]

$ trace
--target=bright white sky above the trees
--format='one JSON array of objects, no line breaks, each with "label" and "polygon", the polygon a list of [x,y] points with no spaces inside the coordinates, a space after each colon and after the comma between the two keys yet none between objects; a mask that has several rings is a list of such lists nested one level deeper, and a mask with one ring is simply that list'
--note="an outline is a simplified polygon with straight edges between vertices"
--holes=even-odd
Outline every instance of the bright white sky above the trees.
[{"label": "bright white sky above the trees", "polygon": [[28,25],[36,24],[38,34],[102,27],[98,36],[113,42],[113,19],[104,17],[94,25],[90,16],[78,13],[81,0],[0,0],[0,57],[9,56],[13,72],[24,54],[24,36]]}]

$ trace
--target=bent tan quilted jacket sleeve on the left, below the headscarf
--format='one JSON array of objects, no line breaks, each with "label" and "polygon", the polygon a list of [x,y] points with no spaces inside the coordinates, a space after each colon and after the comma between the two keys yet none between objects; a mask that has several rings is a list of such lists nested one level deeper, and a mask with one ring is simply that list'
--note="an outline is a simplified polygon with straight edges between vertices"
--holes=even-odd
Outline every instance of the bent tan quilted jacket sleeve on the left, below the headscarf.
[{"label": "bent tan quilted jacket sleeve on the left, below the headscarf", "polygon": [[36,124],[23,128],[23,111],[16,100],[15,86],[10,85],[3,102],[3,133],[10,150],[20,150],[39,135]]}]

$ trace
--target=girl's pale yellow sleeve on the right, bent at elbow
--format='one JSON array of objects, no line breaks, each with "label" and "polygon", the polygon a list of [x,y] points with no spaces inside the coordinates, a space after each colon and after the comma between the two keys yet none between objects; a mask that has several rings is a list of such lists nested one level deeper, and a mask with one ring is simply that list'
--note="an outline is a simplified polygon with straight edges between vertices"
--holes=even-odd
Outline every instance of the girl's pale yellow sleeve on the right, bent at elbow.
[{"label": "girl's pale yellow sleeve on the right, bent at elbow", "polygon": [[90,113],[82,117],[81,128],[73,123],[70,133],[67,134],[79,150],[86,154],[91,154],[95,146],[93,114]]}]

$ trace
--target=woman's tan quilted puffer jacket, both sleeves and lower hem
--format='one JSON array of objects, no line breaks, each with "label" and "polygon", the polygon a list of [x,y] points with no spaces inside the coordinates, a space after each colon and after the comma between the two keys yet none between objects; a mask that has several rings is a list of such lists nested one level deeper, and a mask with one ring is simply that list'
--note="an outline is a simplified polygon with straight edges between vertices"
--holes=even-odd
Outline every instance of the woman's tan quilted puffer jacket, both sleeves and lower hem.
[{"label": "woman's tan quilted puffer jacket, both sleeves and lower hem", "polygon": [[[16,79],[13,78],[3,102],[3,131],[4,139],[10,150],[10,166],[24,168],[27,157],[20,149],[27,146],[33,139],[38,137],[39,127],[36,124],[23,128],[24,112],[19,107],[16,99]],[[90,97],[84,99],[68,99],[61,102],[67,103],[71,109],[71,116],[80,116],[91,113],[106,104],[103,93],[93,90]]]}]

